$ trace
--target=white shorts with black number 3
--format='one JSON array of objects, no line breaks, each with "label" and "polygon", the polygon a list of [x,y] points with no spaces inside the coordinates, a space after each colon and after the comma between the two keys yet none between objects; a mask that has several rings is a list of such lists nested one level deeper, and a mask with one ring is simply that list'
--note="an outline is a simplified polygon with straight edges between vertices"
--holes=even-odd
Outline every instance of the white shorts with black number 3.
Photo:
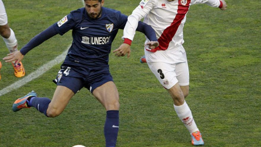
[{"label": "white shorts with black number 3", "polygon": [[150,70],[166,89],[176,83],[180,86],[189,85],[187,56],[182,45],[155,53],[145,50],[145,57]]}]

